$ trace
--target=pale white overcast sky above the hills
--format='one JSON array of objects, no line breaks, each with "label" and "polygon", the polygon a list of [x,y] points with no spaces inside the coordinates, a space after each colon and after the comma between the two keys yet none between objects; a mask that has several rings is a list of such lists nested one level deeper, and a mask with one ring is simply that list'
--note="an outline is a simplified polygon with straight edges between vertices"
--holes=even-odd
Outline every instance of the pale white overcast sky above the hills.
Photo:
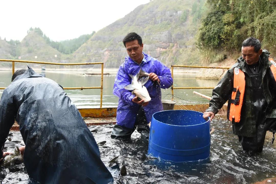
[{"label": "pale white overcast sky above the hills", "polygon": [[39,27],[53,41],[91,34],[123,18],[150,0],[3,0],[0,36],[22,40],[30,27]]}]

